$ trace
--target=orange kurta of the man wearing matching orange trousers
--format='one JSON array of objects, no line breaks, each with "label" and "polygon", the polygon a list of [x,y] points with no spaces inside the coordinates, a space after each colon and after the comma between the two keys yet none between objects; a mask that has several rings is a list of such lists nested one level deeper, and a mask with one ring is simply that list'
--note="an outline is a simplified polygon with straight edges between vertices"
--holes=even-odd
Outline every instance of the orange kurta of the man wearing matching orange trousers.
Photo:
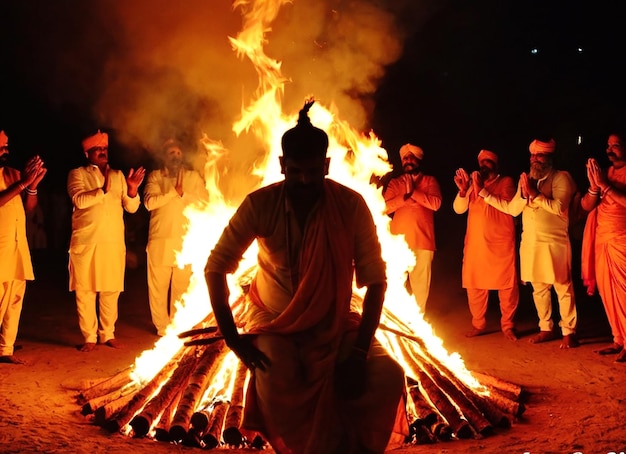
[{"label": "orange kurta of the man wearing matching orange trousers", "polygon": [[[491,197],[507,201],[513,198],[516,190],[511,177],[501,176],[487,182],[485,189]],[[487,204],[474,193],[473,187],[465,197],[457,195],[454,210],[459,214],[468,211],[463,249],[463,287],[513,287],[517,279],[513,217]]]}]

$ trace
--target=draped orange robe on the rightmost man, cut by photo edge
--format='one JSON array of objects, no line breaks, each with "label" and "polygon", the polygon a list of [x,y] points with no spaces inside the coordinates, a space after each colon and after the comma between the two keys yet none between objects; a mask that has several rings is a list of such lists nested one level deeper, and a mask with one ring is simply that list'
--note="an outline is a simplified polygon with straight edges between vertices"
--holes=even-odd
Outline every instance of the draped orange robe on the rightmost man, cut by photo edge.
[{"label": "draped orange robe on the rightmost man, cut by photo edge", "polygon": [[[608,179],[626,192],[626,167],[610,167]],[[582,273],[585,284],[595,281],[602,297],[613,341],[626,341],[626,206],[610,195],[589,214],[583,235]]]}]

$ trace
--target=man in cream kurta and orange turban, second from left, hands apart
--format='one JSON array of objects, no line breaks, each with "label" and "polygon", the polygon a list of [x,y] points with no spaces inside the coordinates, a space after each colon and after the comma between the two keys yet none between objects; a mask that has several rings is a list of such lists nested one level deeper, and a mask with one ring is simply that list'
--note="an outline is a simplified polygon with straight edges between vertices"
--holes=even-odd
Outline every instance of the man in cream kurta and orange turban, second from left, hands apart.
[{"label": "man in cream kurta and orange turban, second from left, hands apart", "polygon": [[[72,200],[70,291],[76,291],[78,324],[90,352],[96,342],[121,348],[115,339],[117,302],[124,290],[126,244],[124,210],[139,208],[137,190],[145,170],[127,177],[109,167],[109,136],[98,131],[82,142],[88,164],[70,171],[67,192]],[[98,297],[98,306],[96,306]]]}]

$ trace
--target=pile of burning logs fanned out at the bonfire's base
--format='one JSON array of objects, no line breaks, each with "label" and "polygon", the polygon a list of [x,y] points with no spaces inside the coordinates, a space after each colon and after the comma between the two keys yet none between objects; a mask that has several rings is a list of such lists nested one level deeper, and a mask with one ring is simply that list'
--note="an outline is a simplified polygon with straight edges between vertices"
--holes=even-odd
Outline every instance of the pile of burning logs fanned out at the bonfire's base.
[{"label": "pile of burning logs fanned out at the bonfire's base", "polygon": [[[400,351],[407,375],[407,444],[489,436],[524,412],[520,386],[474,372],[477,386],[470,387],[388,311],[383,322],[380,331]],[[133,381],[131,369],[85,384],[82,414],[111,433],[204,449],[262,449],[262,437],[241,428],[248,370],[215,331],[182,333],[190,340],[146,384]]]}]

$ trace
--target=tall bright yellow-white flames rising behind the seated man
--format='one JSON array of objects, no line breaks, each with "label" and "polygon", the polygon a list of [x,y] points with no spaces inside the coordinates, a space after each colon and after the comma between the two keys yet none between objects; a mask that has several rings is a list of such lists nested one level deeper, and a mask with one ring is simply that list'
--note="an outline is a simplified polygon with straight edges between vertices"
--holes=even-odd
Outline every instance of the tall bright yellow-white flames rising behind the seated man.
[{"label": "tall bright yellow-white flames rising behind the seated man", "polygon": [[[264,158],[258,162],[253,174],[259,177],[260,185],[266,185],[281,179],[279,160],[280,138],[284,131],[291,128],[297,114],[285,114],[282,109],[282,95],[288,79],[281,73],[281,63],[264,52],[266,34],[270,24],[276,18],[280,8],[287,0],[237,0],[234,8],[239,8],[243,16],[243,29],[230,38],[233,50],[240,58],[246,57],[258,74],[258,87],[254,99],[242,108],[240,118],[233,123],[237,136],[252,133],[265,150]],[[384,215],[385,202],[381,189],[372,184],[372,176],[382,176],[391,170],[385,149],[373,132],[362,134],[339,118],[339,112],[332,101],[324,106],[324,100],[316,102],[310,117],[313,124],[325,130],[329,135],[328,156],[331,158],[329,177],[358,191],[367,202],[376,224],[382,245],[383,259],[387,264],[388,287],[385,295],[386,314],[381,324],[388,328],[379,329],[377,338],[396,357],[398,362],[411,373],[411,365],[405,357],[406,348],[399,344],[397,332],[408,337],[418,336],[424,340],[428,353],[453,370],[457,377],[479,392],[485,392],[470,372],[463,360],[456,354],[450,354],[424,320],[413,297],[404,288],[406,271],[415,264],[415,258],[404,238],[392,235],[389,229],[389,217]],[[218,163],[229,153],[218,141],[203,137],[202,145],[206,151],[204,178],[211,195],[207,205],[192,206],[186,211],[189,219],[183,249],[178,254],[180,263],[192,264],[193,278],[181,301],[176,303],[175,317],[168,327],[167,335],[160,339],[152,350],[143,352],[137,358],[134,378],[146,381],[181,348],[182,341],[176,334],[190,329],[201,320],[210,316],[208,290],[204,279],[206,259],[219,239],[228,220],[235,212],[235,204],[227,201],[220,191]],[[249,272],[256,264],[256,243],[246,252],[239,271],[229,276],[232,301],[237,299],[241,290],[237,282],[242,274]],[[357,295],[363,296],[363,290],[354,288]],[[399,322],[401,320],[402,322]],[[395,331],[395,334],[393,333]],[[228,361],[236,361],[229,355]],[[232,364],[224,366],[232,371]],[[231,374],[229,372],[229,374]],[[220,388],[220,386],[218,386]]]}]

